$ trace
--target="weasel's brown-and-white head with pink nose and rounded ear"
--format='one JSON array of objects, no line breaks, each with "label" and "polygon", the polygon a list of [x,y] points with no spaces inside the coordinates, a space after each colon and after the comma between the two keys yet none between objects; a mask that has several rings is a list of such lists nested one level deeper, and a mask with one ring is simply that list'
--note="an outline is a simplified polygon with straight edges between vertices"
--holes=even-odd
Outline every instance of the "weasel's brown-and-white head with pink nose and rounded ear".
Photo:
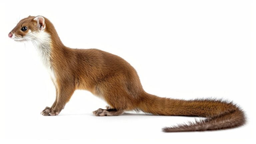
[{"label": "weasel's brown-and-white head with pink nose and rounded ear", "polygon": [[45,19],[42,16],[29,16],[20,22],[8,34],[15,41],[38,40],[38,35],[46,28]]}]

